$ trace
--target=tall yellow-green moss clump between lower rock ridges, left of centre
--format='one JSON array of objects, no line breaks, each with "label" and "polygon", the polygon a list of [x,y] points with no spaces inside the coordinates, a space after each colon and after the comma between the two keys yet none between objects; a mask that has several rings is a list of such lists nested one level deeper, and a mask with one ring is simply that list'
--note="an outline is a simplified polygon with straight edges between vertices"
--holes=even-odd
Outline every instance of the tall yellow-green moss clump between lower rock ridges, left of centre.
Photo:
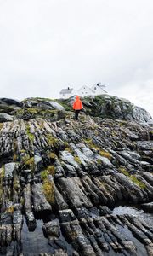
[{"label": "tall yellow-green moss clump between lower rock ridges, left of centre", "polygon": [[54,183],[51,181],[48,181],[47,178],[43,180],[42,184],[42,191],[47,199],[47,201],[51,204],[54,205]]}]

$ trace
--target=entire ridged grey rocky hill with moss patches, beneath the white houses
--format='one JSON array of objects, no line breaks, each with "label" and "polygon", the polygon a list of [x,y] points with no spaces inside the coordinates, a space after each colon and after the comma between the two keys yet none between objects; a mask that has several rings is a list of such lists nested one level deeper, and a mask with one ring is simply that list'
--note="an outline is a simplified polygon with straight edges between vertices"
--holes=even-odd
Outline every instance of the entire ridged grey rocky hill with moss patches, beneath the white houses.
[{"label": "entire ridged grey rocky hill with moss patches, beneath the white houses", "polygon": [[124,99],[0,99],[0,255],[153,255],[153,128]]}]

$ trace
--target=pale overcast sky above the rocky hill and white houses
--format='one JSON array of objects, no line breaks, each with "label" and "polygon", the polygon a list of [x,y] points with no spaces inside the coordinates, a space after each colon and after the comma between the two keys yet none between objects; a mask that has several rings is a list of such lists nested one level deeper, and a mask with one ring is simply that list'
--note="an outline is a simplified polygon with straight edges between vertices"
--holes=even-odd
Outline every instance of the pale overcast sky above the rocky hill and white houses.
[{"label": "pale overcast sky above the rocky hill and white houses", "polygon": [[102,82],[153,116],[152,0],[0,0],[0,97]]}]

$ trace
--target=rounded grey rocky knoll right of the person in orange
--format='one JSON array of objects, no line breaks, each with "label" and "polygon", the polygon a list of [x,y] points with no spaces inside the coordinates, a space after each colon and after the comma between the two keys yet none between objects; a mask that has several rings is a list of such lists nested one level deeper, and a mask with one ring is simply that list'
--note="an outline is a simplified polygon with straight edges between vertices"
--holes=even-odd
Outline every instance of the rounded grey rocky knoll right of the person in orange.
[{"label": "rounded grey rocky knoll right of the person in orange", "polygon": [[[153,125],[153,119],[144,108],[134,106],[126,99],[117,96],[101,95],[85,98],[85,106],[92,115],[111,119],[125,119],[136,121],[142,124],[150,123]],[[89,103],[89,105],[88,105]]]}]

